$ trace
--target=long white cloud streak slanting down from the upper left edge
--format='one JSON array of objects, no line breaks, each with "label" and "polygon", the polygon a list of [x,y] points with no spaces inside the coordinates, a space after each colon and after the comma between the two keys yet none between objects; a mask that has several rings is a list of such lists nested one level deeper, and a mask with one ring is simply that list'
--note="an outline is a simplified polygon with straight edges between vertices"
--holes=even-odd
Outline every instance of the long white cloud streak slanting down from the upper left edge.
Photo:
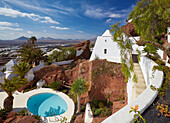
[{"label": "long white cloud streak slanting down from the upper left edge", "polygon": [[39,21],[41,23],[53,23],[59,24],[59,22],[52,20],[50,17],[42,17],[40,15],[36,15],[34,13],[22,13],[18,10],[13,10],[11,8],[2,8],[0,7],[0,15],[9,16],[9,17],[28,17],[33,21]]}]

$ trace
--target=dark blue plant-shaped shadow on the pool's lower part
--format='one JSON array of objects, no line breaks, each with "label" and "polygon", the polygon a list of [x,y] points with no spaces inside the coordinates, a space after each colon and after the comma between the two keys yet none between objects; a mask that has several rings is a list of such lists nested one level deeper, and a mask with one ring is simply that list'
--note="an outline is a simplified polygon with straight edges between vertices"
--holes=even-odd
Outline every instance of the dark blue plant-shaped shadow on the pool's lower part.
[{"label": "dark blue plant-shaped shadow on the pool's lower part", "polygon": [[63,114],[64,112],[65,112],[65,110],[61,109],[60,106],[58,106],[57,109],[53,108],[53,107],[50,107],[49,111],[45,112],[45,116],[49,117],[49,116],[60,115],[60,114]]}]

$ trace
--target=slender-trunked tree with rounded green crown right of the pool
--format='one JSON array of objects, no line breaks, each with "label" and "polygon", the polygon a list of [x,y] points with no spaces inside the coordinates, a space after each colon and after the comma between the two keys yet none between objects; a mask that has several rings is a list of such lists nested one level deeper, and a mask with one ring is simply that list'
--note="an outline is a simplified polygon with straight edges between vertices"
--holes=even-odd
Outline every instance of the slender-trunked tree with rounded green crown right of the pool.
[{"label": "slender-trunked tree with rounded green crown right of the pool", "polygon": [[71,86],[71,92],[77,96],[77,113],[80,112],[80,96],[87,92],[88,87],[88,83],[82,78],[75,80]]}]

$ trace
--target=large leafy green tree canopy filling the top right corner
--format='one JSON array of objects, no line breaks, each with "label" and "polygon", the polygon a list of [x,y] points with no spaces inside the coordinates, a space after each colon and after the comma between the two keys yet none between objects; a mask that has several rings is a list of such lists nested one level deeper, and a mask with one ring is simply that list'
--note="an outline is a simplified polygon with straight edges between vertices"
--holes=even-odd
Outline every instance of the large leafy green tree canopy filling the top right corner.
[{"label": "large leafy green tree canopy filling the top right corner", "polygon": [[143,41],[156,41],[155,35],[167,32],[170,26],[169,15],[169,0],[141,0],[129,14],[129,19],[132,19],[135,31]]}]

